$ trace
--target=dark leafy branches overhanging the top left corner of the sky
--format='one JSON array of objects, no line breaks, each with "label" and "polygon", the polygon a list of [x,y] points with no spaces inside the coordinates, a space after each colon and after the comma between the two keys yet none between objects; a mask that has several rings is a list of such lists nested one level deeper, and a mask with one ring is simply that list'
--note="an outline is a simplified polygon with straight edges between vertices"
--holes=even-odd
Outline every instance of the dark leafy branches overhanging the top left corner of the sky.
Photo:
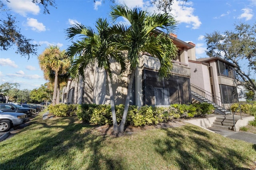
[{"label": "dark leafy branches overhanging the top left corner of the sky", "polygon": [[[10,2],[6,0],[6,2]],[[35,4],[40,4],[44,8],[44,14],[50,14],[48,7],[55,7],[54,0],[32,0]],[[38,45],[32,44],[32,39],[26,38],[21,34],[20,28],[17,26],[16,18],[10,14],[10,9],[0,0],[0,50],[8,50],[13,45],[16,45],[16,53],[22,56],[36,55]]]}]

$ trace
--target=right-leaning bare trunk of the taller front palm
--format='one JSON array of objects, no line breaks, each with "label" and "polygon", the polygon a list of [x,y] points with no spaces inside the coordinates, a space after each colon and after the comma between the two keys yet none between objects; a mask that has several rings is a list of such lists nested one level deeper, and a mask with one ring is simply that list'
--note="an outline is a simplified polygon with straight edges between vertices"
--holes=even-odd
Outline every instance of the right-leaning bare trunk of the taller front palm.
[{"label": "right-leaning bare trunk of the taller front palm", "polygon": [[125,125],[127,114],[128,114],[128,109],[129,109],[129,104],[130,104],[130,95],[132,93],[132,83],[133,83],[135,71],[136,71],[136,67],[132,69],[130,82],[128,84],[128,92],[127,92],[126,100],[125,100],[124,114],[123,114],[123,117],[122,117],[122,121],[121,121],[121,123],[118,127],[118,131],[122,132],[122,133],[124,132],[124,125]]}]

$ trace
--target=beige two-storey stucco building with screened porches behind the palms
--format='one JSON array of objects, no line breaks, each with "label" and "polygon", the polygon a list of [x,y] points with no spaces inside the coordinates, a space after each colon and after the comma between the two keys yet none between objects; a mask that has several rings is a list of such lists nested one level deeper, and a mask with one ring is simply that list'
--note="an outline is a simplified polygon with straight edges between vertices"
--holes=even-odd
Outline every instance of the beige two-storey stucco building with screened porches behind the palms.
[{"label": "beige two-storey stucco building with screened porches behind the palms", "polygon": [[[196,59],[194,43],[179,40],[174,34],[170,34],[170,38],[179,49],[173,60],[172,74],[163,80],[158,79],[160,62],[148,53],[142,53],[135,73],[131,105],[189,104],[198,97],[195,93],[199,91],[199,95],[207,98],[208,103],[216,102],[218,106],[238,101],[235,65],[218,57]],[[112,62],[111,66],[115,104],[124,104],[129,73],[120,76],[119,65]],[[62,101],[80,104],[110,103],[105,71],[90,65],[84,75],[84,80],[68,80],[63,89]]]}]

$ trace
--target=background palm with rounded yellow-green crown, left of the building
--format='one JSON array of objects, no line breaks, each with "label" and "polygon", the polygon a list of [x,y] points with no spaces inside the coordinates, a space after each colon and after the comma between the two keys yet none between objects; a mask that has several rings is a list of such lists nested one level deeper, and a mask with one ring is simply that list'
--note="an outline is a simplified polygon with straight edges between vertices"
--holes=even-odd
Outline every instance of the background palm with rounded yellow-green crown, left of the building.
[{"label": "background palm with rounded yellow-green crown, left of the building", "polygon": [[44,71],[45,79],[52,82],[54,75],[52,105],[56,105],[59,84],[58,76],[60,74],[65,74],[68,71],[68,67],[70,66],[69,58],[65,55],[65,51],[60,51],[59,47],[51,45],[38,56],[38,60],[41,69]]}]

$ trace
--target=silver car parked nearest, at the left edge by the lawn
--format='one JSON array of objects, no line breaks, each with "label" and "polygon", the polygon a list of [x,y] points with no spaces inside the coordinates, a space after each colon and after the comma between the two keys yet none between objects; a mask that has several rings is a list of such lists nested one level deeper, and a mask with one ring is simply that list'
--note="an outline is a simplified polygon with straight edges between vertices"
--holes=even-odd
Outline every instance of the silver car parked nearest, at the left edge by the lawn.
[{"label": "silver car parked nearest, at the left edge by the lawn", "polygon": [[6,132],[12,127],[17,127],[28,121],[25,113],[0,111],[0,132]]}]

